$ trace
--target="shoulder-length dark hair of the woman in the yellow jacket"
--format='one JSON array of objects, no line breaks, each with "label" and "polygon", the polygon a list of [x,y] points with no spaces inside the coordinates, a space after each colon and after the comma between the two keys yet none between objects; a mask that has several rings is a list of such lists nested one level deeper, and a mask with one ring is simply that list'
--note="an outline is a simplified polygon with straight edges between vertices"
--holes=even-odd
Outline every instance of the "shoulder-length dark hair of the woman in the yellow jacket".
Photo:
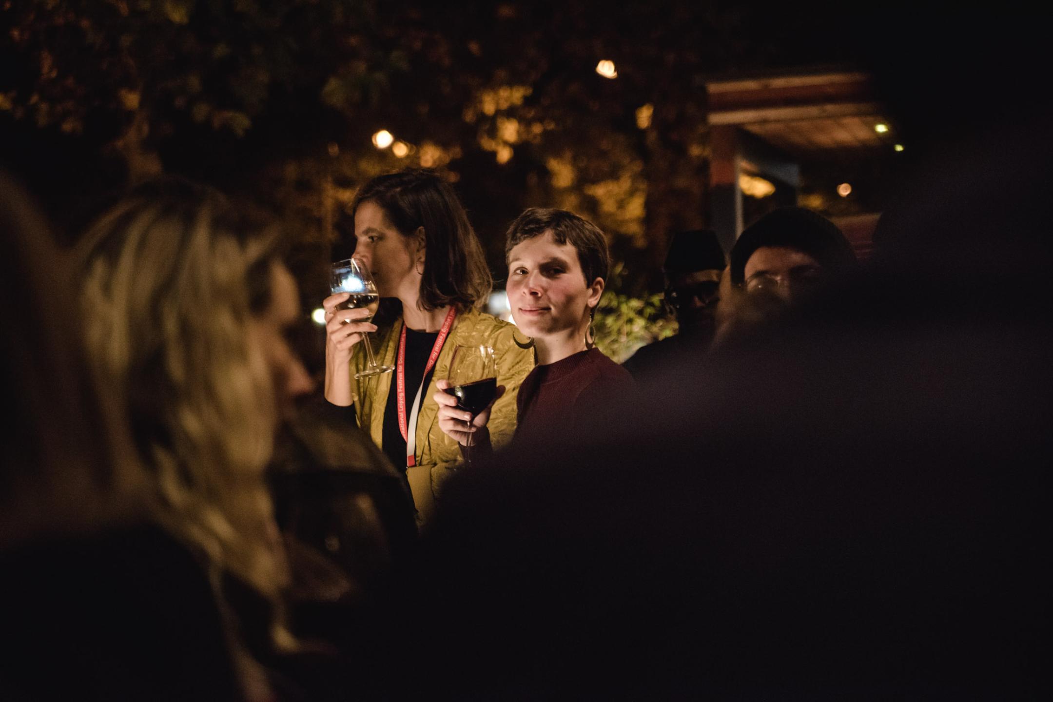
[{"label": "shoulder-length dark hair of the woman in the yellow jacket", "polygon": [[453,305],[460,310],[481,305],[493,279],[482,245],[468,214],[449,183],[433,172],[408,168],[377,176],[355,196],[352,216],[363,202],[374,202],[402,236],[424,227],[422,309]]}]

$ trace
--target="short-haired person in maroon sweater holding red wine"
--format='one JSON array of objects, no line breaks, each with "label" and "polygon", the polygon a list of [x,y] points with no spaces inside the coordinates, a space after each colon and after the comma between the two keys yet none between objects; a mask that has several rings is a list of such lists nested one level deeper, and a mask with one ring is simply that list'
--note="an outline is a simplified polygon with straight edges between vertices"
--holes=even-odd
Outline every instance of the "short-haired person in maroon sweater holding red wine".
[{"label": "short-haired person in maroon sweater holding red wine", "polygon": [[[532,207],[509,226],[509,304],[516,326],[533,339],[538,365],[516,397],[514,444],[547,443],[556,434],[584,430],[607,402],[633,390],[629,373],[595,346],[593,318],[610,267],[607,238],[592,222],[564,209]],[[473,415],[442,390],[439,427],[473,460],[493,452],[489,408]]]}]

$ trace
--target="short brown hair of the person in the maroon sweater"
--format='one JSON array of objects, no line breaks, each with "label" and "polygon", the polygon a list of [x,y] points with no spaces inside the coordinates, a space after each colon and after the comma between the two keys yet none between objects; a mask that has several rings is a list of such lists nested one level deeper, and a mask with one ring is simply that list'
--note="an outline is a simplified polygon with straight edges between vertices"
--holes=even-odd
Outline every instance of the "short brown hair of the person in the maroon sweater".
[{"label": "short brown hair of the person in the maroon sweater", "polygon": [[545,232],[552,232],[556,243],[569,243],[577,250],[585,285],[592,285],[597,278],[607,281],[611,268],[607,237],[598,226],[565,209],[531,207],[519,215],[509,226],[504,241],[504,260],[509,260],[516,244],[540,237]]}]

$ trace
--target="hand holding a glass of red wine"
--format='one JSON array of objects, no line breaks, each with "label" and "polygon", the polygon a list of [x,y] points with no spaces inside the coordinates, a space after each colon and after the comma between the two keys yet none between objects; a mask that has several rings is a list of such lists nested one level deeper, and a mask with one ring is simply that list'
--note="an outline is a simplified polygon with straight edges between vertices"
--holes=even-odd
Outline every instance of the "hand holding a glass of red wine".
[{"label": "hand holding a glass of red wine", "polygon": [[497,364],[490,346],[458,346],[450,361],[450,376],[436,382],[433,397],[439,405],[439,428],[462,446],[480,443],[494,402],[504,395],[497,384]]}]

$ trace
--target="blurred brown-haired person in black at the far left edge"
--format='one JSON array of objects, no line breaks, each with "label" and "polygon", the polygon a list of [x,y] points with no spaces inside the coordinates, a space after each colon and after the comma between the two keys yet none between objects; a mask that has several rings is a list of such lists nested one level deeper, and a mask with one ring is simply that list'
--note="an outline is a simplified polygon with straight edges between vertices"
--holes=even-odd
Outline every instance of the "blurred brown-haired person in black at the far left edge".
[{"label": "blurred brown-haired person in black at the far left edge", "polygon": [[69,261],[2,175],[0,229],[0,698],[247,699],[206,561],[85,359]]}]

